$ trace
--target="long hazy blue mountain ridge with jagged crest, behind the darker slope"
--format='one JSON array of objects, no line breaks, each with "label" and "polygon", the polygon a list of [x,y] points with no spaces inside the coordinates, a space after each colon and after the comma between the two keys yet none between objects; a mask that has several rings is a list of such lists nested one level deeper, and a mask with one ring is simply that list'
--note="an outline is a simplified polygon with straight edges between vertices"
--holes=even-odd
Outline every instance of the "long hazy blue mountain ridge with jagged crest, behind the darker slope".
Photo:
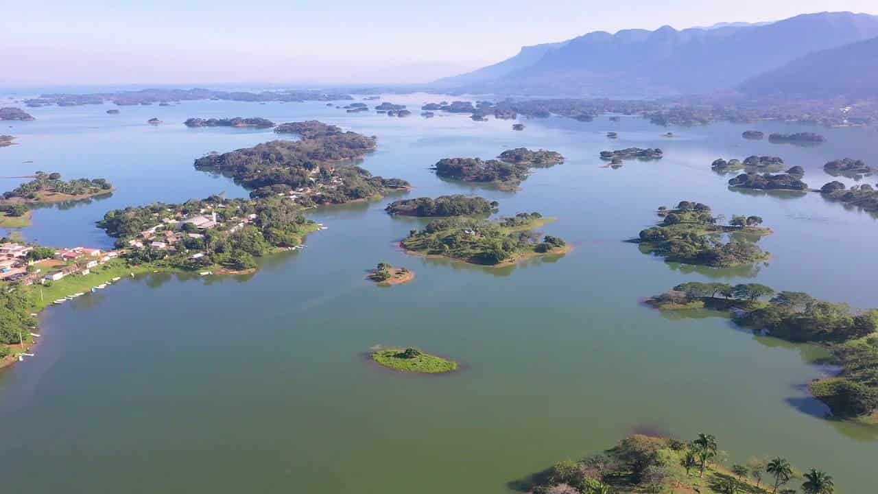
[{"label": "long hazy blue mountain ridge with jagged crest, behind the darker slope", "polygon": [[878,37],[878,17],[803,14],[766,25],[587,33],[522,48],[484,69],[437,81],[460,91],[565,97],[659,97],[729,91],[806,54]]}]

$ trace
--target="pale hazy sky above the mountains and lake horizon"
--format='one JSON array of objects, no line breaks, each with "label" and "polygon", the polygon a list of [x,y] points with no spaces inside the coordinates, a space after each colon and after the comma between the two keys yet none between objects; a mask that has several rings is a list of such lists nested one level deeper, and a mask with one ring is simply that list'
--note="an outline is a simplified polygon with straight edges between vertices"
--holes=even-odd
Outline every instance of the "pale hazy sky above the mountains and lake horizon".
[{"label": "pale hazy sky above the mountains and lake horizon", "polygon": [[878,0],[6,0],[0,86],[410,83],[589,31],[681,29]]}]

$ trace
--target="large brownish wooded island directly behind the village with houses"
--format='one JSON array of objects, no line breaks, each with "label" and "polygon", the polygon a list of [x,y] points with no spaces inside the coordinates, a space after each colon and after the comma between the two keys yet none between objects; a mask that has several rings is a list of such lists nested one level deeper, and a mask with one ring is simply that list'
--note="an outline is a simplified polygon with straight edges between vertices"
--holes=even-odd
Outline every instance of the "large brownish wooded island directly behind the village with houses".
[{"label": "large brownish wooded island directly behind the village with houses", "polygon": [[378,198],[410,186],[399,178],[373,177],[353,163],[375,149],[370,137],[315,120],[281,124],[275,132],[301,139],[212,153],[195,160],[195,168],[234,178],[254,189],[251,197],[285,196],[306,207]]}]

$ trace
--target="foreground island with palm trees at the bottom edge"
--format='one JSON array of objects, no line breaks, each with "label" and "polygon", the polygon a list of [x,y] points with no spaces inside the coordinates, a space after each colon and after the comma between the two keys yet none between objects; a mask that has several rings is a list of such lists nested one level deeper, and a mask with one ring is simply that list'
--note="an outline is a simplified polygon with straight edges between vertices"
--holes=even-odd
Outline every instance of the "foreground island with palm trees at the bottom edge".
[{"label": "foreground island with palm trees at the bottom edge", "polygon": [[801,472],[783,456],[754,456],[723,464],[716,436],[699,433],[681,441],[632,434],[600,454],[558,461],[551,468],[509,483],[531,494],[629,494],[716,492],[721,494],[833,494],[832,476],[820,469]]}]

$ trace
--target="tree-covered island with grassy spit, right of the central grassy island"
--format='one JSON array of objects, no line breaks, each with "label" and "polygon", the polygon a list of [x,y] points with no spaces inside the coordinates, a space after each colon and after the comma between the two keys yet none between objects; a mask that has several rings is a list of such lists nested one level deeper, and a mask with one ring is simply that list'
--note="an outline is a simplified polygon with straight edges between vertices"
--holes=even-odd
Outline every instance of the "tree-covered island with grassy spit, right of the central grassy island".
[{"label": "tree-covered island with grassy spit, right of the central grassy island", "polygon": [[[700,202],[680,201],[673,209],[659,208],[663,219],[659,226],[644,229],[638,238],[642,250],[670,262],[713,267],[749,265],[767,259],[768,253],[749,237],[764,236],[770,229],[759,227],[759,216],[731,218],[729,225],[719,225],[710,207]],[[728,236],[728,242],[724,237]]]}]

